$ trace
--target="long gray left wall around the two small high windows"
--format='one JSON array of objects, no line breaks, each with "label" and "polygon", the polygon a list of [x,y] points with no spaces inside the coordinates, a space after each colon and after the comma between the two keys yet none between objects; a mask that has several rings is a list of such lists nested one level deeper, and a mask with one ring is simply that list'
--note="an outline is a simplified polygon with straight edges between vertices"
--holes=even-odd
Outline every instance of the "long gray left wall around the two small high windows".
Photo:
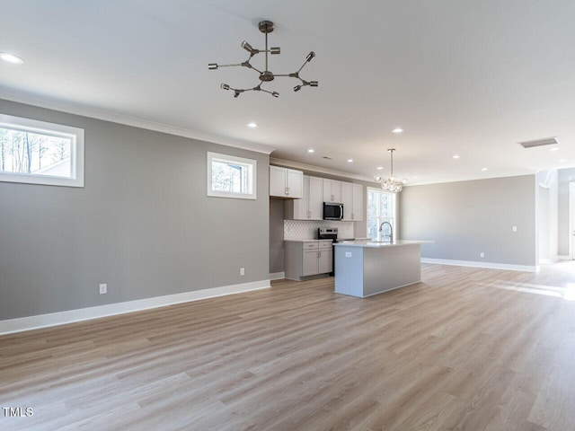
[{"label": "long gray left wall around the two small high windows", "polygon": [[[269,278],[267,154],[10,101],[0,112],[85,130],[84,188],[0,182],[0,320]],[[257,200],[208,198],[208,151],[256,159]]]}]

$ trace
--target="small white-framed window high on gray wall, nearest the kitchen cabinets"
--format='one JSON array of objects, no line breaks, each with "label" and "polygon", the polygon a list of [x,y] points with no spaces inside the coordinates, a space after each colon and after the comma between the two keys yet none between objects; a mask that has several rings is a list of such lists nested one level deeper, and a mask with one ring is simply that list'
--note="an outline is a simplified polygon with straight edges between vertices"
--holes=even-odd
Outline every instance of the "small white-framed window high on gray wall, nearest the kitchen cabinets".
[{"label": "small white-framed window high on gray wall, nearest the kitchen cabinets", "polygon": [[208,196],[255,199],[256,168],[255,160],[208,153]]}]

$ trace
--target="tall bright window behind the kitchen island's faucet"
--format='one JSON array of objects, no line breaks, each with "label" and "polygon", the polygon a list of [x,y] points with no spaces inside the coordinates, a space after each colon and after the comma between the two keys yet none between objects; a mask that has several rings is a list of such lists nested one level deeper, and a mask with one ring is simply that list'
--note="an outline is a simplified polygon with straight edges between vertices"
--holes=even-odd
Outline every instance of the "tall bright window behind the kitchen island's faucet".
[{"label": "tall bright window behind the kitchen island's faucet", "polygon": [[383,232],[379,232],[379,226],[384,222],[389,222],[396,231],[395,202],[395,193],[367,188],[367,236],[369,238],[377,241],[387,239],[390,233],[389,226],[385,225]]}]

